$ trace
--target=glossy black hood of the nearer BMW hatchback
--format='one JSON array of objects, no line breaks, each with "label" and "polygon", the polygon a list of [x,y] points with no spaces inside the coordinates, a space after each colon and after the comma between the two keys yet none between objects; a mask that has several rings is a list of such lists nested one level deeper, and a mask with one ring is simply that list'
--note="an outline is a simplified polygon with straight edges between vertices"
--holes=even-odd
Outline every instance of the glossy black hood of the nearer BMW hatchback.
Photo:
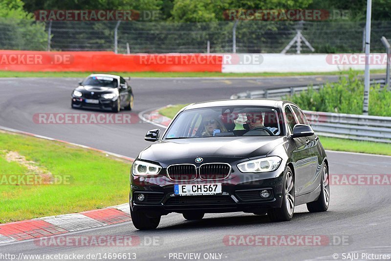
[{"label": "glossy black hood of the nearer BMW hatchback", "polygon": [[166,162],[196,157],[227,157],[237,160],[267,155],[284,142],[276,137],[210,137],[159,141],[144,149],[140,159]]}]

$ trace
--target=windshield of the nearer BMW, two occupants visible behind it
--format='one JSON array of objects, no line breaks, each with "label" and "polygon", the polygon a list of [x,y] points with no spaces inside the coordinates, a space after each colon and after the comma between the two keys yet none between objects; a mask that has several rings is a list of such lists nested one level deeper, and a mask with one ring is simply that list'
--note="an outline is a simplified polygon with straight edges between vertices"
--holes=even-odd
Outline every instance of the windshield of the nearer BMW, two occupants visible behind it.
[{"label": "windshield of the nearer BMW, two occupants visible behind it", "polygon": [[212,107],[181,112],[164,139],[282,136],[282,116],[272,107]]}]

